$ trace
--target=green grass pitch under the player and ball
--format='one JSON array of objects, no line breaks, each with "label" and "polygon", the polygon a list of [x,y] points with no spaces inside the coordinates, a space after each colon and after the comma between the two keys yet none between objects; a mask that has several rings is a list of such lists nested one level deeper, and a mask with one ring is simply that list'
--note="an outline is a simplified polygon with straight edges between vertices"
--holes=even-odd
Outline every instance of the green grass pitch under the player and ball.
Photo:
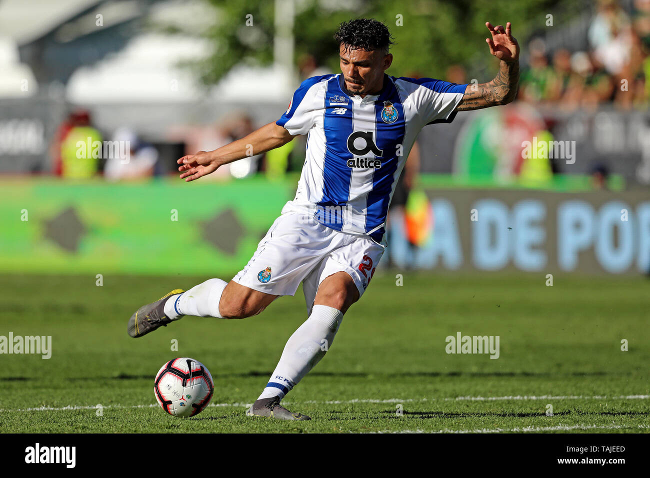
[{"label": "green grass pitch under the player and ball", "polygon": [[[547,287],[544,274],[404,272],[398,286],[395,273],[375,275],[283,402],[313,418],[301,422],[244,414],[306,318],[300,290],[257,317],[185,317],[131,339],[138,306],[205,278],[106,275],[98,287],[94,275],[0,276],[0,335],[52,336],[53,349],[49,360],[0,355],[0,431],[649,431],[647,278],[555,274]],[[456,332],[499,336],[500,357],[447,354]],[[195,418],[168,416],[153,396],[153,376],[176,356],[214,377]]]}]

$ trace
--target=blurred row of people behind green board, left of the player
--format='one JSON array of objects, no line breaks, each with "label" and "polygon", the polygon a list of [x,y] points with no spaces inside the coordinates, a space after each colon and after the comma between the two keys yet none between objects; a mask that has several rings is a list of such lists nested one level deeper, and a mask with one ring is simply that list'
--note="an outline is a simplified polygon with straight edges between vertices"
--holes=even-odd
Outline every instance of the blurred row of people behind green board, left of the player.
[{"label": "blurred row of people behind green board, left of the player", "polygon": [[[107,181],[129,181],[164,176],[177,172],[176,159],[198,151],[212,151],[240,139],[257,129],[245,111],[233,112],[214,124],[187,125],[176,131],[180,148],[151,144],[136,131],[120,127],[106,134],[92,121],[90,111],[73,110],[59,125],[49,148],[51,172],[70,179],[103,176]],[[209,179],[246,178],[263,172],[279,178],[288,171],[299,171],[304,162],[305,139],[298,139],[263,155],[250,155],[219,168]]]}]

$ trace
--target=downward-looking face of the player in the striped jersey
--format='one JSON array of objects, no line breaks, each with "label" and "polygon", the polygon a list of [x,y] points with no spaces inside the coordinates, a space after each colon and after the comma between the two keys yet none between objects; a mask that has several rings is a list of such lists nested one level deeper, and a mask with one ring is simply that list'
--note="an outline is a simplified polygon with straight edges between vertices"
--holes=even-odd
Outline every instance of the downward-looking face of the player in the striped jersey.
[{"label": "downward-looking face of the player in the striped jersey", "polygon": [[365,96],[377,94],[383,86],[383,72],[391,66],[393,55],[382,50],[363,51],[339,48],[341,73],[348,93]]}]

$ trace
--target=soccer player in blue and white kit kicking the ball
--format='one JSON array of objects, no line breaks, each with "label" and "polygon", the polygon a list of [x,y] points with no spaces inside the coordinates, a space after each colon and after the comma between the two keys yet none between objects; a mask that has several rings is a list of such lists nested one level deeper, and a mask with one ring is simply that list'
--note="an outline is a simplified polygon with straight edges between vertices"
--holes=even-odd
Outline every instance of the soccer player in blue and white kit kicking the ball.
[{"label": "soccer player in blue and white kit kicking the ball", "polygon": [[368,287],[382,258],[385,220],[409,150],[422,127],[451,122],[457,111],[505,105],[515,98],[519,46],[506,27],[486,23],[489,51],[500,60],[492,81],[456,85],[431,78],[396,78],[387,27],[359,19],[339,25],[341,73],[309,78],[278,121],[211,152],[178,160],[194,181],[247,155],[307,135],[307,156],[293,200],[230,282],[209,279],[171,291],[129,320],[142,337],[183,315],[243,319],[302,287],[307,320],[289,338],[249,416],[307,420],[280,405],[331,347],[344,313]]}]

